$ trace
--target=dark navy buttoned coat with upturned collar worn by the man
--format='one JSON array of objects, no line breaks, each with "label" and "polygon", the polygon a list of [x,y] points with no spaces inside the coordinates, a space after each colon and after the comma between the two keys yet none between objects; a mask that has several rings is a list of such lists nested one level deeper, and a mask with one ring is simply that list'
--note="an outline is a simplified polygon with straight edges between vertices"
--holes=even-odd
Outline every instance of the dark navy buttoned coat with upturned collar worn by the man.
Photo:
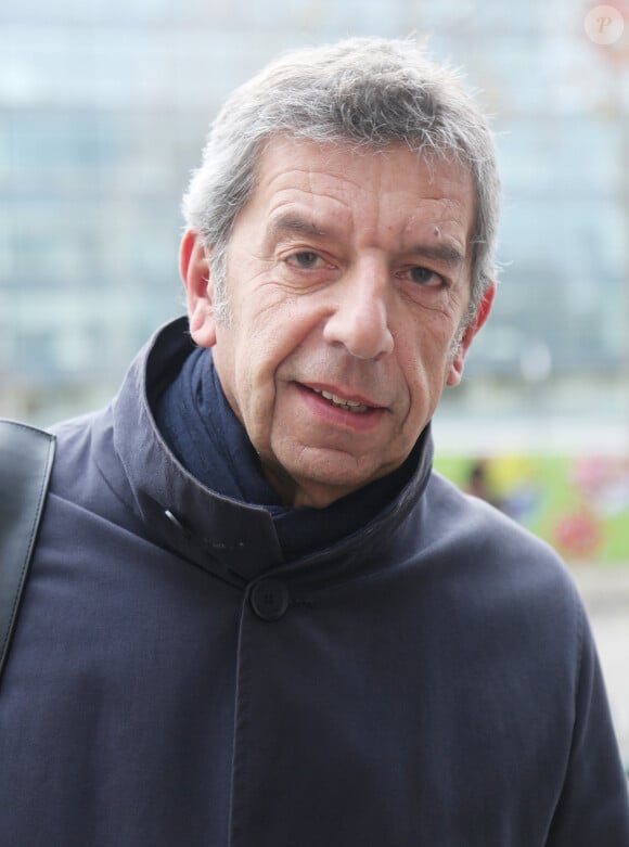
[{"label": "dark navy buttoned coat with upturned collar worn by the man", "polygon": [[627,847],[581,603],[555,555],[431,470],[282,562],[151,401],[163,331],[61,425],[0,688],[2,847]]}]

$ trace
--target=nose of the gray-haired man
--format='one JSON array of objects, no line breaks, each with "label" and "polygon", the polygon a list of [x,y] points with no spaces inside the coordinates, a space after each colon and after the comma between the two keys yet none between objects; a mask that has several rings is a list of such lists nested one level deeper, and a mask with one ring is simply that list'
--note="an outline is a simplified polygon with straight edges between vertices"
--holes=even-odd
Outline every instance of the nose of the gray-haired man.
[{"label": "nose of the gray-haired man", "polygon": [[334,308],[323,337],[342,344],[358,359],[380,359],[393,351],[388,326],[388,279],[384,271],[362,270],[334,286]]}]

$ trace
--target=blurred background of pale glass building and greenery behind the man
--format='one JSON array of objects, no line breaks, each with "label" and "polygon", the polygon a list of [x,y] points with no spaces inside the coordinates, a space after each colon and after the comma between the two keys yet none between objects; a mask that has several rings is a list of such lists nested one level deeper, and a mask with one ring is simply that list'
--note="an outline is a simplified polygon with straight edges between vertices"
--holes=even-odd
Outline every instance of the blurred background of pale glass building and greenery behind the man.
[{"label": "blurred background of pale glass building and greenery behind the man", "polygon": [[106,402],[182,312],[181,194],[279,51],[414,34],[493,116],[501,284],[437,467],[560,549],[629,762],[629,0],[2,0],[0,415]]}]

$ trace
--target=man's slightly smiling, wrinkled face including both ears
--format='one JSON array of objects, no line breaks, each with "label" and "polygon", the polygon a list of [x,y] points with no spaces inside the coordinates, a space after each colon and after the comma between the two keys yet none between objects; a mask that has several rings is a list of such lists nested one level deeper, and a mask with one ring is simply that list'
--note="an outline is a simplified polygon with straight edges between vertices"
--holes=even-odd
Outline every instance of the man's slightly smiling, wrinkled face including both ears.
[{"label": "man's slightly smiling, wrinkled face including both ears", "polygon": [[274,139],[227,251],[229,325],[184,236],[192,336],[285,503],[325,506],[398,467],[459,382],[491,299],[465,328],[473,210],[446,162]]}]

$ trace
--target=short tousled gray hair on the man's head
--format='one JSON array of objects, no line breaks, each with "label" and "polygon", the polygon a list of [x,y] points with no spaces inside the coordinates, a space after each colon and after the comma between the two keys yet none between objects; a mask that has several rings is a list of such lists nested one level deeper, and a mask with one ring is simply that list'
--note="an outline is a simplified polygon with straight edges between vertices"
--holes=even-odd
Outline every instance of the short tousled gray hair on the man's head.
[{"label": "short tousled gray hair on the man's head", "polygon": [[224,255],[231,229],[256,184],[274,136],[448,157],[475,192],[468,316],[496,280],[500,180],[487,118],[447,65],[410,39],[352,38],[290,52],[238,88],[214,120],[203,163],[183,197],[188,226],[211,247],[217,319],[228,315]]}]

